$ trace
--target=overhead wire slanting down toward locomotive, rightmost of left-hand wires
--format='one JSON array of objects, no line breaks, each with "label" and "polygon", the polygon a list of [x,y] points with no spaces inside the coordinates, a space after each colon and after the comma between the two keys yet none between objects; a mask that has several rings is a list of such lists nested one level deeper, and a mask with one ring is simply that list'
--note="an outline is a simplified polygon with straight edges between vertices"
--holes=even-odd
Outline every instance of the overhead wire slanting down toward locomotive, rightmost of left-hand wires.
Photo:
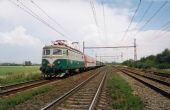
[{"label": "overhead wire slanting down toward locomotive, rightmost of left-hand wires", "polygon": [[55,24],[57,24],[62,30],[64,30],[67,35],[71,36],[71,35],[66,31],[66,29],[65,29],[63,26],[61,26],[61,24],[59,24],[54,18],[52,18],[51,16],[49,16],[48,13],[45,12],[37,3],[35,3],[33,0],[30,0],[30,2],[31,2],[32,4],[34,4],[39,10],[41,10],[50,20],[52,20]]}]

